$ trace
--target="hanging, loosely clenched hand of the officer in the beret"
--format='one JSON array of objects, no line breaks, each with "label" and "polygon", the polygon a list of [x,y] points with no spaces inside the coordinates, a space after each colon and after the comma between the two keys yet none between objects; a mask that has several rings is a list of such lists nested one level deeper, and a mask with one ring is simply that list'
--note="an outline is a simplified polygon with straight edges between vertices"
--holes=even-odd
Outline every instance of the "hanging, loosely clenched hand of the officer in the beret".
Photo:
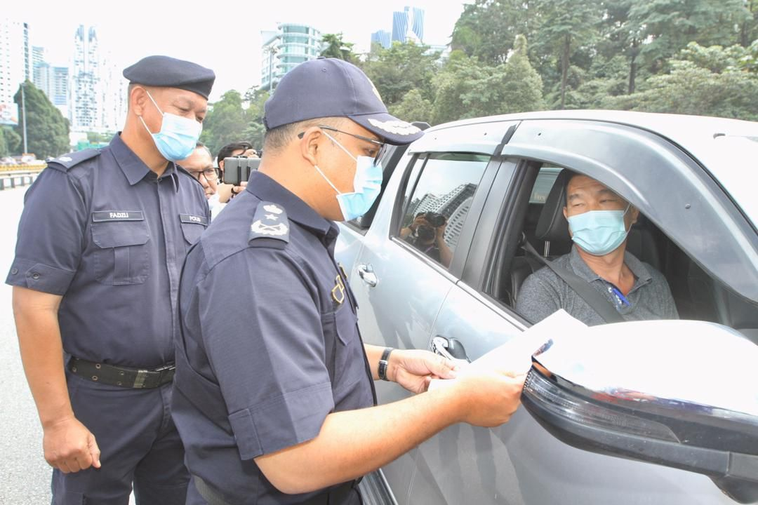
[{"label": "hanging, loosely clenched hand of the officer in the beret", "polygon": [[74,417],[45,427],[42,447],[45,461],[61,472],[78,472],[90,466],[100,468],[100,448],[95,435]]}]

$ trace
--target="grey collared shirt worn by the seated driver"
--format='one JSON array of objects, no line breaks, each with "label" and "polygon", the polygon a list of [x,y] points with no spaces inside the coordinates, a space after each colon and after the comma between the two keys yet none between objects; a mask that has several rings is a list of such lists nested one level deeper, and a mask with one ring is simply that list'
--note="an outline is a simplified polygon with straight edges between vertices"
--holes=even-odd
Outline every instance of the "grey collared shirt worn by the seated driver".
[{"label": "grey collared shirt worn by the seated driver", "polygon": [[[614,285],[601,279],[584,263],[576,246],[553,263],[587,280],[597,291],[603,293],[625,320],[666,320],[679,317],[669,283],[663,274],[648,263],[637,260],[629,251],[624,253],[624,263],[634,274],[634,285],[625,296],[628,305],[613,294]],[[605,323],[600,314],[550,268],[543,267],[528,276],[518,291],[518,313],[532,323],[537,323],[559,309],[589,326]]]}]

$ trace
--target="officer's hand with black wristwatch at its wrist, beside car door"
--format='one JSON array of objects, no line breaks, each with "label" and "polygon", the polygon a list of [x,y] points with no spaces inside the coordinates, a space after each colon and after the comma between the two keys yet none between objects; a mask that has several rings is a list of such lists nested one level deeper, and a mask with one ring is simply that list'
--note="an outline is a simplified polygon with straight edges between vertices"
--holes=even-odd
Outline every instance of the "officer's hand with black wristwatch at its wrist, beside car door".
[{"label": "officer's hand with black wristwatch at its wrist, beside car door", "polygon": [[390,354],[387,379],[412,393],[423,393],[431,379],[454,379],[458,365],[439,354],[396,349]]}]

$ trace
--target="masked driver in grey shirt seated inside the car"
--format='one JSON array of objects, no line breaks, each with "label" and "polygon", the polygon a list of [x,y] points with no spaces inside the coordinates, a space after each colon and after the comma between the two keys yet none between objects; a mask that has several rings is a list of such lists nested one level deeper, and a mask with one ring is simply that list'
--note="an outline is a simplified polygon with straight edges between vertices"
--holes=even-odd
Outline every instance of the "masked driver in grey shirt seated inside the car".
[{"label": "masked driver in grey shirt seated inside the car", "polygon": [[[575,174],[566,185],[563,215],[574,245],[554,261],[590,283],[624,320],[678,319],[666,278],[626,251],[626,238],[640,211],[590,177]],[[605,323],[553,270],[543,267],[528,276],[516,310],[533,323],[563,309],[583,323]]]}]

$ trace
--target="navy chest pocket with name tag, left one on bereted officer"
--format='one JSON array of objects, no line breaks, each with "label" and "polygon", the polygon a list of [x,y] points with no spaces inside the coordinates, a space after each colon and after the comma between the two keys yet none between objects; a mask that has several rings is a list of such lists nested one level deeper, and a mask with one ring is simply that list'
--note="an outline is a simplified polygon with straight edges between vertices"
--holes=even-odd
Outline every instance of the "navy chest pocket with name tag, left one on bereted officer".
[{"label": "navy chest pocket with name tag, left one on bereted officer", "polygon": [[[102,217],[110,214],[112,217]],[[127,218],[121,217],[126,215]],[[95,278],[108,285],[142,284],[149,276],[150,232],[141,212],[92,214]]]}]

